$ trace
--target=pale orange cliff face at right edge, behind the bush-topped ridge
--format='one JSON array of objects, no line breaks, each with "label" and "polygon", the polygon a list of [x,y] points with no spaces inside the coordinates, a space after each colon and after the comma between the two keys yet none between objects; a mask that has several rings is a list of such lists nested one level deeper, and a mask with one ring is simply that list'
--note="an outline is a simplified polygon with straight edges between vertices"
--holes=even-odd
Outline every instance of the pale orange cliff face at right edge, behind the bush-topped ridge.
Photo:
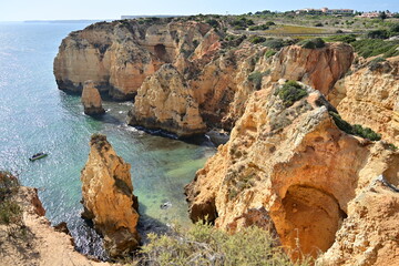
[{"label": "pale orange cliff face at right edge, behind the bush-topped ridge", "polygon": [[328,98],[345,120],[399,146],[399,57],[355,64]]}]

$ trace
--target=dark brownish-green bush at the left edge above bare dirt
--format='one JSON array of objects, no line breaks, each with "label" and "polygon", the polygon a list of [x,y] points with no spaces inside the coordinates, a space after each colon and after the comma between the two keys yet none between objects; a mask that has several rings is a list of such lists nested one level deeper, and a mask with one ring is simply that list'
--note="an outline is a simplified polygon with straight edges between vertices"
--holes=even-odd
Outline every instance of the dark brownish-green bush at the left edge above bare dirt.
[{"label": "dark brownish-green bush at the left edge above bare dirt", "polygon": [[22,219],[22,209],[12,201],[20,187],[18,178],[9,172],[0,172],[0,224],[17,223]]}]

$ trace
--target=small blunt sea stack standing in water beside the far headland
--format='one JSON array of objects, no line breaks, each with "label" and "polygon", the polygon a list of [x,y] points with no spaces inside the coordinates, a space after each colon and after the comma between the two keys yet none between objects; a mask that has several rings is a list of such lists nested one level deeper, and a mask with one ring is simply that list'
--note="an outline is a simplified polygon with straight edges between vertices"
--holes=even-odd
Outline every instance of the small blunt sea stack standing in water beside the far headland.
[{"label": "small blunt sea stack standing in water beside the far headland", "polygon": [[84,113],[88,115],[96,115],[105,113],[102,108],[101,95],[94,86],[93,81],[85,81],[81,99],[84,108]]}]

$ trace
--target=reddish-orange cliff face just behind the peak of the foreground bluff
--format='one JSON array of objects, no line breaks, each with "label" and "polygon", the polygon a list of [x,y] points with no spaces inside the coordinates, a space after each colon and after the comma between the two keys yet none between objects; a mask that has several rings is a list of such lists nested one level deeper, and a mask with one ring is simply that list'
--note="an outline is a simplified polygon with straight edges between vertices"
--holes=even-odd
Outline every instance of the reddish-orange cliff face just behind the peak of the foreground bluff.
[{"label": "reddish-orange cliff face just behind the peak of the foreground bluff", "polygon": [[275,57],[272,63],[272,80],[301,81],[325,95],[349,70],[354,60],[354,49],[346,43],[326,43],[319,49],[290,45]]}]

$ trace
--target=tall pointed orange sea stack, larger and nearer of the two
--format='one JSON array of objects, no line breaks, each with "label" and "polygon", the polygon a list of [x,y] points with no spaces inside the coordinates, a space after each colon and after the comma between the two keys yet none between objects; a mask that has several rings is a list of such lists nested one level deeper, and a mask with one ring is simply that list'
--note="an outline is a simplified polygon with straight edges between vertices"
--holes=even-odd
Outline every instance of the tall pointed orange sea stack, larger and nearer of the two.
[{"label": "tall pointed orange sea stack, larger and nearer of the two", "polygon": [[140,242],[139,203],[133,196],[130,167],[104,135],[92,136],[89,160],[81,173],[82,216],[93,221],[95,229],[104,236],[104,247],[111,257],[129,254]]}]

